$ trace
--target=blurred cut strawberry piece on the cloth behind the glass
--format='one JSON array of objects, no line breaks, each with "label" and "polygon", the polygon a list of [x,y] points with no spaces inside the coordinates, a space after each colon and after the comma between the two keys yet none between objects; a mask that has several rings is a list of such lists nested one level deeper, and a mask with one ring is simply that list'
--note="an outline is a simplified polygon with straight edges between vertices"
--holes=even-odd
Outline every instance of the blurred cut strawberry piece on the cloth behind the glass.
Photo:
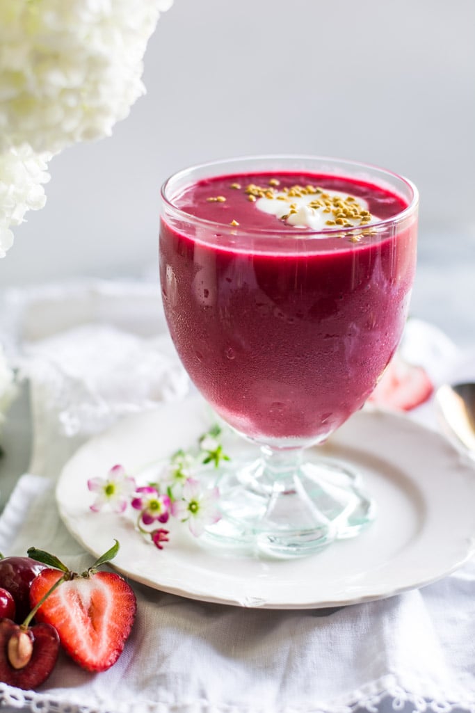
[{"label": "blurred cut strawberry piece on the cloth behind the glass", "polygon": [[396,411],[410,411],[424,404],[434,391],[427,371],[395,354],[381,380],[369,396],[369,403]]}]

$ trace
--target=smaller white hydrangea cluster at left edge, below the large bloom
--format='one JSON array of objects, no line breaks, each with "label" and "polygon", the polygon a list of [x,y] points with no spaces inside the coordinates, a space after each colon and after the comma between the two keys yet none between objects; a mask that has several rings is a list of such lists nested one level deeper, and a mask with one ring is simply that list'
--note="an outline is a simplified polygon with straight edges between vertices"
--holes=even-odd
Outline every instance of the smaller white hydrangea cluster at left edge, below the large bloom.
[{"label": "smaller white hydrangea cluster at left edge, below the large bloom", "polygon": [[0,257],[5,257],[14,240],[10,227],[23,222],[27,210],[39,210],[46,202],[43,184],[49,180],[49,158],[27,144],[0,154]]}]

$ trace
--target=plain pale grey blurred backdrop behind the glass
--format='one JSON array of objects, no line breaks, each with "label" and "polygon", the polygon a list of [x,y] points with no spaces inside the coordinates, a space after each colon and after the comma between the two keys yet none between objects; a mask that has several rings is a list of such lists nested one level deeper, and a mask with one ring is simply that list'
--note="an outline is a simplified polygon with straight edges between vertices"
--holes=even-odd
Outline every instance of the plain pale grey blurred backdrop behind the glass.
[{"label": "plain pale grey blurred backdrop behind the glass", "polygon": [[[421,269],[469,265],[474,0],[175,0],[144,81],[112,138],[53,159],[46,207],[16,229],[0,287],[155,279],[160,183],[252,153],[335,155],[407,175],[422,195]],[[437,272],[429,282],[438,292]],[[414,299],[417,309],[417,289]]]}]

